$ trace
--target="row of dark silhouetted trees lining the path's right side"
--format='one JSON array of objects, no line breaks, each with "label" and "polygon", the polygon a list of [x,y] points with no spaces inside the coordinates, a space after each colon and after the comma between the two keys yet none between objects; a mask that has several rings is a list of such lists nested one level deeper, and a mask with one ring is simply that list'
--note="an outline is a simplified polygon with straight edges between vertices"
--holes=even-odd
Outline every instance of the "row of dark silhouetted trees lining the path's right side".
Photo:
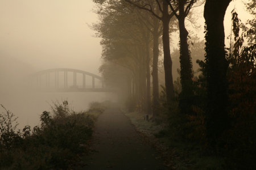
[{"label": "row of dark silhouetted trees lining the path's right side", "polygon": [[[224,16],[230,0],[205,1],[203,41],[188,36],[184,22],[188,16],[193,18],[191,8],[203,1],[94,2],[101,20],[92,25],[102,38],[100,71],[109,86],[126,92],[130,111],[137,107],[152,112],[155,120],[165,112],[179,140],[200,143],[208,154],[232,155],[234,160],[246,155],[250,161],[247,165],[240,161],[239,166],[253,167],[250,162],[255,162],[255,156],[249,150],[255,151],[256,140],[251,135],[255,133],[256,104],[255,84],[249,82],[255,82],[255,19],[247,21],[247,28],[233,11],[234,46],[227,49]],[[255,15],[255,2],[245,5]],[[179,31],[179,51],[174,50],[171,57],[170,33],[174,31]],[[243,45],[247,40],[249,44]],[[161,54],[162,91],[158,77]],[[178,67],[174,56],[179,56]],[[193,65],[199,70],[193,70]],[[177,80],[173,79],[173,67],[179,73]]]}]

